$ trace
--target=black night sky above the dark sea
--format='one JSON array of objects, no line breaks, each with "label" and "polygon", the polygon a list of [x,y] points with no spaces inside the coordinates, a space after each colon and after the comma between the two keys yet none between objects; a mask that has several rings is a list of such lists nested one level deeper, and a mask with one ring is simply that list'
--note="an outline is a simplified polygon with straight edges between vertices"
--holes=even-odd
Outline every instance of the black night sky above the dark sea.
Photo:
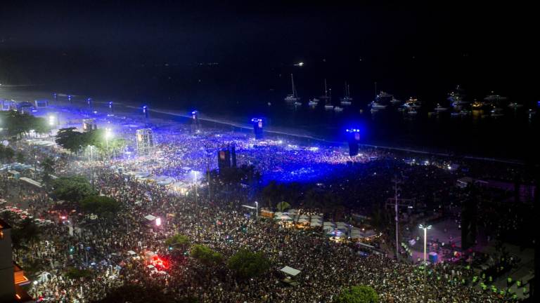
[{"label": "black night sky above the dark sea", "polygon": [[3,1],[0,81],[64,87],[74,78],[99,87],[107,74],[122,78],[118,70],[132,73],[133,67],[167,63],[191,74],[190,65],[219,62],[252,74],[304,61],[366,82],[394,78],[411,86],[404,79],[413,77],[415,89],[437,86],[439,94],[465,83],[478,95],[496,90],[520,102],[539,97],[527,72],[536,60],[530,56],[534,18],[525,7],[496,1],[88,2]]}]

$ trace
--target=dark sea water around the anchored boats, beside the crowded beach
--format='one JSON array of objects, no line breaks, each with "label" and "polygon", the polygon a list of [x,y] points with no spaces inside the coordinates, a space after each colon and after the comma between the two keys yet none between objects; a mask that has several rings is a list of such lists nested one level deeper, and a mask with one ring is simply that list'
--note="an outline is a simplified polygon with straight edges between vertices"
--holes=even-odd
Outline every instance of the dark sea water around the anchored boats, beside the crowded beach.
[{"label": "dark sea water around the anchored boats, beside the crowded beach", "polygon": [[[424,62],[425,63],[425,62]],[[320,62],[304,67],[292,65],[224,66],[224,65],[137,65],[127,68],[89,69],[78,76],[61,77],[28,90],[56,91],[80,95],[96,101],[121,100],[132,105],[148,105],[153,109],[191,111],[236,123],[248,123],[252,117],[264,117],[266,126],[290,132],[309,133],[326,140],[345,140],[345,129],[363,130],[363,142],[368,144],[410,147],[452,154],[523,159],[532,153],[538,140],[538,119],[529,119],[527,109],[536,107],[536,100],[523,94],[515,83],[485,75],[475,81],[475,74],[463,69],[466,62],[434,62],[438,73],[428,73],[425,64],[414,69],[415,62],[399,63]],[[448,65],[462,69],[445,69]],[[342,66],[342,67],[340,67]],[[434,70],[434,69],[430,69]],[[465,72],[463,72],[465,71]],[[293,107],[283,101],[290,93],[290,74],[295,76],[302,106]],[[339,105],[344,83],[350,85],[352,105],[344,112],[325,111],[324,101],[311,109],[307,102],[323,95],[323,81],[332,88],[333,103]],[[508,80],[508,79],[506,79]],[[377,90],[393,93],[400,100],[411,96],[423,102],[415,117],[396,109],[378,114],[369,112],[368,103]],[[491,89],[508,95],[509,100],[524,105],[514,111],[505,108],[505,116],[491,118],[489,112],[473,112],[468,117],[451,117],[449,113],[428,116],[437,103],[446,102],[447,93],[460,84],[467,99],[482,100]],[[496,89],[499,88],[499,89]],[[447,105],[447,104],[446,104]]]}]

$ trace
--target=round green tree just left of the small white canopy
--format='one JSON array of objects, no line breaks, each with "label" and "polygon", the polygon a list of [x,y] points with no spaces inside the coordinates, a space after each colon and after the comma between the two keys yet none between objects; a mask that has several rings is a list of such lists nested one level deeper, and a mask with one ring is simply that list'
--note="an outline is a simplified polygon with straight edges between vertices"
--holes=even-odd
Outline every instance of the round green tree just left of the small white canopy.
[{"label": "round green tree just left of the small white canopy", "polygon": [[252,278],[264,274],[270,268],[270,261],[263,253],[252,253],[249,250],[238,250],[227,264],[238,278]]}]

